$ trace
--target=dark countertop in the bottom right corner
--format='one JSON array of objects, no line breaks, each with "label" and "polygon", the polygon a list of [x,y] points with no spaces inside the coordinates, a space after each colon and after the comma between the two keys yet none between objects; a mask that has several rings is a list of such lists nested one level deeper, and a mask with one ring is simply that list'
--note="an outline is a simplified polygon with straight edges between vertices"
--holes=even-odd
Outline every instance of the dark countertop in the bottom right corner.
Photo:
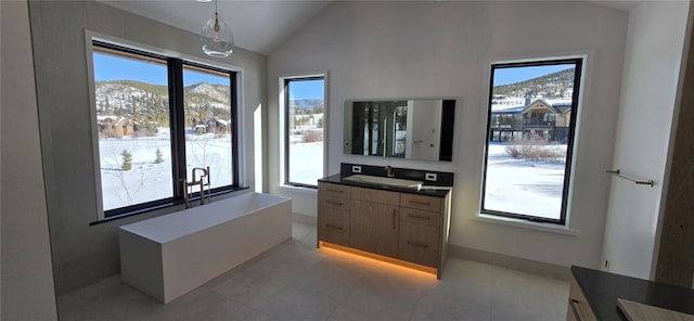
[{"label": "dark countertop in the bottom right corner", "polygon": [[600,321],[627,320],[617,306],[617,298],[694,314],[692,288],[581,267],[571,267],[571,272]]}]

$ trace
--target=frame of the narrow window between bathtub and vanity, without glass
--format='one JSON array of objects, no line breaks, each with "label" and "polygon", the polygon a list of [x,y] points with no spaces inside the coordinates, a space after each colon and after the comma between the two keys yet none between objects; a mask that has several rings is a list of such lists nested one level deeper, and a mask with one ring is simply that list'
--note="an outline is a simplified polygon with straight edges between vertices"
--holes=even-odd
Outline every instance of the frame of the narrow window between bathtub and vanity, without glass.
[{"label": "frame of the narrow window between bathtub and vanity, without glass", "polygon": [[318,181],[316,181],[316,185],[311,185],[311,184],[306,184],[306,183],[299,183],[299,182],[292,182],[290,181],[290,84],[292,81],[310,81],[310,80],[323,80],[323,151],[322,151],[322,172],[323,176],[325,175],[325,140],[326,140],[326,126],[327,126],[327,94],[326,94],[326,87],[327,87],[327,76],[325,73],[320,73],[320,74],[310,74],[310,75],[300,75],[300,76],[287,76],[287,77],[281,77],[280,81],[281,81],[281,86],[282,86],[282,104],[284,106],[283,108],[283,115],[282,115],[282,119],[283,119],[283,126],[281,128],[282,130],[282,137],[283,137],[283,147],[284,147],[284,153],[282,155],[282,168],[283,168],[283,172],[282,172],[282,184],[285,187],[293,187],[293,188],[304,188],[304,189],[311,189],[311,190],[318,190]]}]

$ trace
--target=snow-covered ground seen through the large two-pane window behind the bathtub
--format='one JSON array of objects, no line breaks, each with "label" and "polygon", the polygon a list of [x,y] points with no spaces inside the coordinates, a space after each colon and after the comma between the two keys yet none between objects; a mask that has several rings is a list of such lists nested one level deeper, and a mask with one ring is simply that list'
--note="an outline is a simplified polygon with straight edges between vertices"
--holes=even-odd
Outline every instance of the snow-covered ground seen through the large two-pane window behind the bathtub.
[{"label": "snow-covered ground seen through the large two-pane window behind the bathtub", "polygon": [[[160,163],[157,163],[157,149],[162,152]],[[130,170],[121,169],[124,150],[132,155]],[[100,139],[99,152],[104,210],[171,197],[168,129],[160,128],[154,137]],[[230,136],[187,134],[185,152],[189,180],[194,167],[209,166],[213,188],[231,183]]]}]

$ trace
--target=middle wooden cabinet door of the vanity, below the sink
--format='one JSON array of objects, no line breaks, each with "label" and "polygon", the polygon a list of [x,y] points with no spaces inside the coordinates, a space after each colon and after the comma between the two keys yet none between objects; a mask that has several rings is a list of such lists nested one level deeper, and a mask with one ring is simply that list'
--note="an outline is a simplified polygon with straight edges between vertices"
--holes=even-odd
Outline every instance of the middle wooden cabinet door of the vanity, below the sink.
[{"label": "middle wooden cabinet door of the vanity, below the sink", "polygon": [[398,256],[398,206],[351,201],[351,247],[389,257]]}]

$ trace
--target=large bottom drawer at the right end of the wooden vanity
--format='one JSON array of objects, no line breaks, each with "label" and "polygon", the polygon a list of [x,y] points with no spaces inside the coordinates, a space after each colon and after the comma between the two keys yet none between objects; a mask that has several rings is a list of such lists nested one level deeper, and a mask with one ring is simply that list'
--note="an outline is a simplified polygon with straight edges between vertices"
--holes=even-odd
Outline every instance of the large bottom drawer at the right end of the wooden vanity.
[{"label": "large bottom drawer at the right end of the wooden vanity", "polygon": [[398,258],[417,265],[438,267],[439,229],[427,224],[400,223]]}]

